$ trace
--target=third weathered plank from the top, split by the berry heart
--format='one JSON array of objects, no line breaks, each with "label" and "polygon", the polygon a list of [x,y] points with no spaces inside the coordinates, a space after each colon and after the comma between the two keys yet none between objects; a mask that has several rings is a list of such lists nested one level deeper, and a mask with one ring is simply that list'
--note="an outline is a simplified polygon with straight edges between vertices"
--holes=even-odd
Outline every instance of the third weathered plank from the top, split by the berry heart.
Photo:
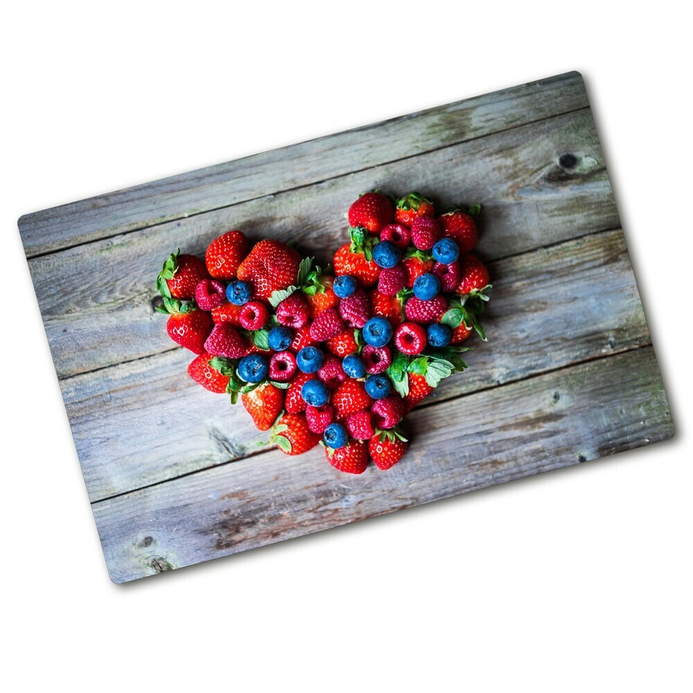
[{"label": "third weathered plank from the top, split by the berry heart", "polygon": [[[650,343],[620,230],[506,258],[490,269],[491,342],[469,340],[477,347],[466,356],[471,368],[445,380],[437,399]],[[92,501],[261,450],[256,443],[267,435],[243,407],[184,374],[192,358],[176,349],[62,381]]]}]

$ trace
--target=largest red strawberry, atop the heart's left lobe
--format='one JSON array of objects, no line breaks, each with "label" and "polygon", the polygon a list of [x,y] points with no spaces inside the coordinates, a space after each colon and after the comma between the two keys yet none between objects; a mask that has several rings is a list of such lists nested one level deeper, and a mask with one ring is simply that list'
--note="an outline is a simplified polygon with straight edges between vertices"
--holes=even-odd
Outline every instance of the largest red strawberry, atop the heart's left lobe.
[{"label": "largest red strawberry, atop the heart's left lobe", "polygon": [[279,240],[261,240],[238,266],[238,279],[252,283],[255,295],[269,299],[298,279],[301,256]]}]

